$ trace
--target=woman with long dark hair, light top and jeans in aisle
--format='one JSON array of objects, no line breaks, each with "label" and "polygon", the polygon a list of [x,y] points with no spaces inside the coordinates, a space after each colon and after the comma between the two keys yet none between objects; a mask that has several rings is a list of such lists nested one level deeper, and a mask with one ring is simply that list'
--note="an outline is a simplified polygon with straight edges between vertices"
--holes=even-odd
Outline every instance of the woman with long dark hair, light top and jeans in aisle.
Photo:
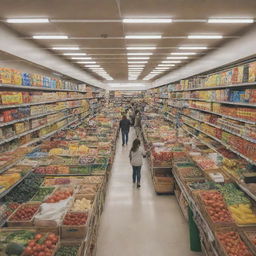
[{"label": "woman with long dark hair, light top and jeans in aisle", "polygon": [[132,180],[135,184],[137,182],[137,188],[140,188],[140,178],[141,178],[141,166],[143,163],[143,158],[146,157],[146,152],[140,147],[140,140],[135,139],[130,150],[129,158],[132,165]]}]

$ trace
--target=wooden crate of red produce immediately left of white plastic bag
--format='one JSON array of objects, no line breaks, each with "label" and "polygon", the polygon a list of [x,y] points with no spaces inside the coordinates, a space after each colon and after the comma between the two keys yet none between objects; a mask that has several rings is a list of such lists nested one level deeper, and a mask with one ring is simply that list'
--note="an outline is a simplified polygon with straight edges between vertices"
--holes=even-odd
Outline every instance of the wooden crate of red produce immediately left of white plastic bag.
[{"label": "wooden crate of red produce immediately left of white plastic bag", "polygon": [[40,203],[25,203],[20,205],[8,218],[8,227],[31,227]]}]

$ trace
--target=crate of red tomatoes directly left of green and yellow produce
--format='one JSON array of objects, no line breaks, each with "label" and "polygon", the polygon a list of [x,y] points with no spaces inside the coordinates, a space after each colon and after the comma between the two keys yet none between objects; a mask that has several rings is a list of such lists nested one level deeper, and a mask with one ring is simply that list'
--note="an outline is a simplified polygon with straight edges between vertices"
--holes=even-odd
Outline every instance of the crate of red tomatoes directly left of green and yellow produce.
[{"label": "crate of red tomatoes directly left of green and yellow produce", "polygon": [[199,192],[198,202],[203,215],[213,230],[234,226],[234,220],[219,191],[207,190]]}]

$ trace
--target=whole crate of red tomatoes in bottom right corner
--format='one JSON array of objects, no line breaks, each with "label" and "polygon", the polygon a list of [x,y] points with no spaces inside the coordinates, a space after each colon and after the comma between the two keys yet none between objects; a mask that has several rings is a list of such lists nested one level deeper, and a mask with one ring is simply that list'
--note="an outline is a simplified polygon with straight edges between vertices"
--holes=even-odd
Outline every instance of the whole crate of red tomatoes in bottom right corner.
[{"label": "whole crate of red tomatoes in bottom right corner", "polygon": [[253,256],[243,237],[234,229],[216,232],[217,249],[223,256]]}]

